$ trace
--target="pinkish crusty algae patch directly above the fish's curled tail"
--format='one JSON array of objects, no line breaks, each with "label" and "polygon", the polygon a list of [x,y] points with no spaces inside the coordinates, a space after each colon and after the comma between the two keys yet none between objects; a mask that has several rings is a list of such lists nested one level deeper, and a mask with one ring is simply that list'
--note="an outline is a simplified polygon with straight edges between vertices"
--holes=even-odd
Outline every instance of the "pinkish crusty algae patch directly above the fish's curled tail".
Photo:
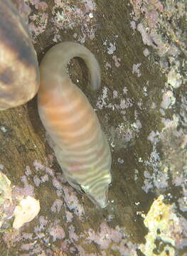
[{"label": "pinkish crusty algae patch directly above the fish's curled tail", "polygon": [[[48,23],[53,24],[53,41],[61,40],[60,31],[65,29],[79,28],[80,33],[74,33],[74,37],[84,43],[87,38],[92,40],[95,38],[95,11],[97,9],[95,1],[85,0],[75,2],[73,0],[55,0],[49,6],[47,1],[26,0],[26,3],[19,4],[19,11],[24,18],[31,13],[31,6],[34,9],[34,14],[29,16],[29,30],[31,32],[33,43],[36,43],[40,36],[48,26]],[[48,15],[50,7],[51,15]]]}]

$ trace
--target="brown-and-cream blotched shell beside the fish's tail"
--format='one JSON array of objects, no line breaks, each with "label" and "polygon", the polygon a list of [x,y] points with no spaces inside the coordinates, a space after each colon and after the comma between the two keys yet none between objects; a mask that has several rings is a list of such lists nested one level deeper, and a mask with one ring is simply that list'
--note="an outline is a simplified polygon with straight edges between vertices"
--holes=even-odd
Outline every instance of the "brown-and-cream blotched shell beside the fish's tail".
[{"label": "brown-and-cream blotched shell beside the fish's tail", "polygon": [[0,110],[22,105],[38,91],[36,53],[11,1],[0,1]]}]

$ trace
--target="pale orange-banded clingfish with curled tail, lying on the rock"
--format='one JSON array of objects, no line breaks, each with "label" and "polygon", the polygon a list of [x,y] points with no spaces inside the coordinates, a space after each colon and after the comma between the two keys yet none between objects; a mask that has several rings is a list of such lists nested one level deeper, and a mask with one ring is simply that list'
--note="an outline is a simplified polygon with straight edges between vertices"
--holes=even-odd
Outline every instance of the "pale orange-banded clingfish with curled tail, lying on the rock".
[{"label": "pale orange-banded clingfish with curled tail, lying on the rock", "polygon": [[73,57],[85,61],[92,90],[100,87],[100,66],[90,50],[78,43],[58,43],[41,61],[38,112],[68,183],[105,208],[112,181],[109,144],[90,102],[67,74]]}]

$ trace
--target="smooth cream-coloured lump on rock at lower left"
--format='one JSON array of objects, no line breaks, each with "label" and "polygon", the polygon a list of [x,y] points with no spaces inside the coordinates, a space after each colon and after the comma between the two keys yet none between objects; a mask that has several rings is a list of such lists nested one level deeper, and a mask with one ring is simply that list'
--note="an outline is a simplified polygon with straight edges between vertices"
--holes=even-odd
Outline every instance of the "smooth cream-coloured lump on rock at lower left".
[{"label": "smooth cream-coloured lump on rock at lower left", "polygon": [[14,210],[13,228],[21,228],[25,223],[33,220],[40,211],[40,202],[31,196],[22,199]]}]

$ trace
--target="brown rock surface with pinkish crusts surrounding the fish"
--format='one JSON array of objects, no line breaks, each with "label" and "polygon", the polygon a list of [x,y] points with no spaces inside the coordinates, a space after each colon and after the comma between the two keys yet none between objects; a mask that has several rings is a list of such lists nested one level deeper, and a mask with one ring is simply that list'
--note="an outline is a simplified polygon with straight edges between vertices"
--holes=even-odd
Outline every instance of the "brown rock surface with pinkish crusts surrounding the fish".
[{"label": "brown rock surface with pinkish crusts surrounding the fish", "polygon": [[[98,92],[87,86],[82,60],[73,59],[68,73],[107,135],[113,182],[105,210],[66,183],[36,98],[0,112],[0,171],[13,196],[41,206],[18,230],[4,218],[1,255],[185,256],[186,1],[14,2],[39,61],[61,41],[82,43],[99,61]],[[0,217],[9,210],[0,205]]]}]

